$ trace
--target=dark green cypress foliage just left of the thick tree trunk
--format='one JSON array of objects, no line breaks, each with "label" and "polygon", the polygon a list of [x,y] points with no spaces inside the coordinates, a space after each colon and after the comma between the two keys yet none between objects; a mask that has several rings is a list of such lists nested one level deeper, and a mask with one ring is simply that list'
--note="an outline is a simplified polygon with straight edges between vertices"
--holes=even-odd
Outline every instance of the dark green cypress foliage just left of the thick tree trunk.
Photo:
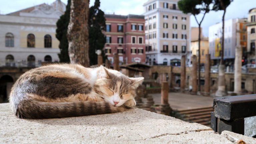
[{"label": "dark green cypress foliage just left of the thick tree trunk", "polygon": [[65,13],[60,17],[57,21],[57,29],[56,29],[56,38],[60,41],[59,48],[60,53],[58,54],[60,62],[69,63],[69,55],[68,55],[68,39],[67,39],[67,30],[68,23],[70,19],[70,1],[68,0],[68,4],[66,7]]}]

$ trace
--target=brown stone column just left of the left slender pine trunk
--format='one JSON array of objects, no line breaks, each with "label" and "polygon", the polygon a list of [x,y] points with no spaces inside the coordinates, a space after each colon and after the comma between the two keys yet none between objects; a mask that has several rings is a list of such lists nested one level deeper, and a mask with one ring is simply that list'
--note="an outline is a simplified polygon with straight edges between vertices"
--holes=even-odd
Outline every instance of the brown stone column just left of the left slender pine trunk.
[{"label": "brown stone column just left of the left slender pine trunk", "polygon": [[197,94],[197,57],[192,56],[192,92],[191,94]]}]

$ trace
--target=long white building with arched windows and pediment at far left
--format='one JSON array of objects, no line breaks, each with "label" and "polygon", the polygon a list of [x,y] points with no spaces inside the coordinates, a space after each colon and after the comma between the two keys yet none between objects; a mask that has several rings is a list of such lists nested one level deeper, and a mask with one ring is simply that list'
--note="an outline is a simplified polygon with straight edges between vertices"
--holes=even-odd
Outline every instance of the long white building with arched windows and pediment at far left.
[{"label": "long white building with arched windows and pediment at far left", "polygon": [[65,12],[60,0],[0,15],[0,66],[35,66],[59,61],[56,22]]}]

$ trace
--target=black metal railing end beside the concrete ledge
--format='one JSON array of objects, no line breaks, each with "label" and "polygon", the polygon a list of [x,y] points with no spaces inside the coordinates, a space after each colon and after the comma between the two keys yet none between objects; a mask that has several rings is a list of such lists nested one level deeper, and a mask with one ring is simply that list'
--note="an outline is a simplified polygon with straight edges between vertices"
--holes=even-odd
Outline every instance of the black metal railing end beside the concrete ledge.
[{"label": "black metal railing end beside the concrete ledge", "polygon": [[255,94],[214,98],[211,128],[219,134],[227,130],[255,138],[255,106]]}]

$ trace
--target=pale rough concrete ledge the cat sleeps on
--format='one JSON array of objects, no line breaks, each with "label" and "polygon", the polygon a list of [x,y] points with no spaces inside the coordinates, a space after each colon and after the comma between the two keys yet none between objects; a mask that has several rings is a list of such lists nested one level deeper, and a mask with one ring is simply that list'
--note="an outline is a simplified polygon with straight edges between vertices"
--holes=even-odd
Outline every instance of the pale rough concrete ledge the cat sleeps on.
[{"label": "pale rough concrete ledge the cat sleeps on", "polygon": [[0,135],[0,143],[233,143],[207,126],[137,108],[114,114],[28,120],[16,118],[9,103],[0,104]]}]

